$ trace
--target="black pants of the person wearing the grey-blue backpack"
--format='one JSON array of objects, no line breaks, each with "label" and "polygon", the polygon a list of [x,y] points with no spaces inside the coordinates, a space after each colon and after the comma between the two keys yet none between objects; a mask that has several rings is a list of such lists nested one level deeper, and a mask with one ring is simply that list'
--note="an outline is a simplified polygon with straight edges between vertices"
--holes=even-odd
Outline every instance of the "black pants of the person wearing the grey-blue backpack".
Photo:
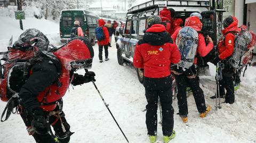
[{"label": "black pants of the person wearing the grey-blue backpack", "polygon": [[175,74],[175,81],[177,83],[178,88],[178,107],[179,107],[179,115],[181,117],[186,117],[188,115],[188,103],[187,103],[187,87],[190,87],[193,96],[195,98],[196,107],[199,113],[203,113],[206,111],[205,99],[204,99],[204,92],[199,87],[199,77],[196,76],[195,78],[187,78],[185,74],[176,75]]}]

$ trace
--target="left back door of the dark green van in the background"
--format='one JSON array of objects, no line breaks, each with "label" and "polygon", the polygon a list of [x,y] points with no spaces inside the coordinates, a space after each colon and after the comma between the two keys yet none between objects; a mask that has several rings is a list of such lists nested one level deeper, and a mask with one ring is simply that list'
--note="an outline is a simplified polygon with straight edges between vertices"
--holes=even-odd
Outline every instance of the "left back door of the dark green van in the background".
[{"label": "left back door of the dark green van in the background", "polygon": [[62,11],[60,18],[60,37],[70,38],[70,32],[73,27],[71,11]]}]

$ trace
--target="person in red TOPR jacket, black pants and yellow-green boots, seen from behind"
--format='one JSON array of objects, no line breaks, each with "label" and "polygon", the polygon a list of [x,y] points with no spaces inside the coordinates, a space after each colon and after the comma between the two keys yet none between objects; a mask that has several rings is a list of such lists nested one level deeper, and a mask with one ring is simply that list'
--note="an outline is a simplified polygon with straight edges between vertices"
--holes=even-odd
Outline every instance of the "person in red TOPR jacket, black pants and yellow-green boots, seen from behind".
[{"label": "person in red TOPR jacket, black pants and yellow-green boots, seen from behind", "polygon": [[159,97],[163,116],[163,140],[166,143],[175,137],[170,65],[180,61],[180,53],[170,34],[161,24],[159,16],[149,16],[147,23],[150,28],[135,47],[133,65],[144,69],[143,86],[148,102],[146,125],[150,142],[156,141]]}]

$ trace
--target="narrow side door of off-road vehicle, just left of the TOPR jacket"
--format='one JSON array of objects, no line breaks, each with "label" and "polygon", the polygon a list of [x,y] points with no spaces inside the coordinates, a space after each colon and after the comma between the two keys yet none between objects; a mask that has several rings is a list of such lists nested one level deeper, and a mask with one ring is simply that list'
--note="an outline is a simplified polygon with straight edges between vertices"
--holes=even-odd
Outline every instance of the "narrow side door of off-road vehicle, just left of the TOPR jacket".
[{"label": "narrow side door of off-road vehicle, just left of the TOPR jacket", "polygon": [[131,28],[131,39],[129,41],[129,51],[130,51],[130,57],[133,57],[135,46],[137,44],[138,40],[138,24],[139,19],[132,19],[132,28]]}]

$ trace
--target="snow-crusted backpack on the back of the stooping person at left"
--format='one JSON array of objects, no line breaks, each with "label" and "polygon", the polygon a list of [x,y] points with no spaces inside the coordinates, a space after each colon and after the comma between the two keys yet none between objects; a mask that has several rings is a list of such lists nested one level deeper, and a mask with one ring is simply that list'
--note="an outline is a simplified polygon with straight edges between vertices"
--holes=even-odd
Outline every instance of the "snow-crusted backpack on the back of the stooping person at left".
[{"label": "snow-crusted backpack on the back of the stooping person at left", "polygon": [[19,92],[30,74],[29,69],[36,62],[51,59],[54,64],[59,64],[58,59],[48,51],[47,37],[37,29],[28,29],[8,47],[7,52],[1,53],[4,54],[1,60],[5,61],[3,65],[0,64],[1,100],[7,102],[13,94]]}]

